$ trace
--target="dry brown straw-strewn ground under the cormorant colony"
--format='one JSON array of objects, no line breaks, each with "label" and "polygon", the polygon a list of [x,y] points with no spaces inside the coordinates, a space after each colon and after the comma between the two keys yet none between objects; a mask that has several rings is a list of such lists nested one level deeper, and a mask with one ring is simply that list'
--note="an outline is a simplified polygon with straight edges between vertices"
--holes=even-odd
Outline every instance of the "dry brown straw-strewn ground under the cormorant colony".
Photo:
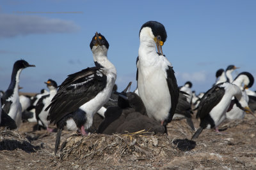
[{"label": "dry brown straw-strewn ground under the cormorant colony", "polygon": [[[193,122],[198,127],[198,120]],[[32,131],[33,125],[23,123],[19,131],[1,129],[0,169],[256,169],[252,115],[224,122],[222,134],[204,130],[196,146],[184,140],[193,135],[186,120],[173,120],[168,136],[138,132],[82,137],[63,131],[64,144],[56,156],[56,133]]]}]

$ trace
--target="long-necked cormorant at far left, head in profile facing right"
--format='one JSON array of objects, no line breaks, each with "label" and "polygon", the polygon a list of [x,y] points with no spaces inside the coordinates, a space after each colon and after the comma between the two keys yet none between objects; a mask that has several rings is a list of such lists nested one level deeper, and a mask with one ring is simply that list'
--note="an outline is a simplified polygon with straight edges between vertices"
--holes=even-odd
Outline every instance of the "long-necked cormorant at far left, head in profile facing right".
[{"label": "long-necked cormorant at far left, head in profile facing right", "polygon": [[35,65],[30,65],[26,60],[17,60],[13,64],[12,70],[12,80],[11,83],[4,92],[2,97],[3,100],[3,110],[7,113],[13,120],[15,120],[17,127],[20,127],[21,118],[22,118],[22,108],[19,102],[19,81],[20,81],[20,73],[22,69],[26,67],[35,67]]}]

